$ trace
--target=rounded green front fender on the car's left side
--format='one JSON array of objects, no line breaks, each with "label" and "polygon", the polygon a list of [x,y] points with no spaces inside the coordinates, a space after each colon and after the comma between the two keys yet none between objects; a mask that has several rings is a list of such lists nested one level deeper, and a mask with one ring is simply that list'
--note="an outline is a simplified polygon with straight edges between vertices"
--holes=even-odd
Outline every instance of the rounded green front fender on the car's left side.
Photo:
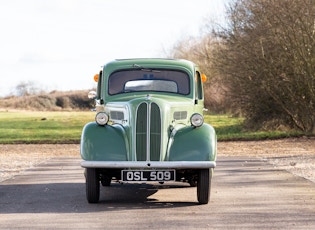
[{"label": "rounded green front fender on the car's left side", "polygon": [[87,161],[126,161],[127,139],[120,125],[86,124],[82,131],[80,153]]}]

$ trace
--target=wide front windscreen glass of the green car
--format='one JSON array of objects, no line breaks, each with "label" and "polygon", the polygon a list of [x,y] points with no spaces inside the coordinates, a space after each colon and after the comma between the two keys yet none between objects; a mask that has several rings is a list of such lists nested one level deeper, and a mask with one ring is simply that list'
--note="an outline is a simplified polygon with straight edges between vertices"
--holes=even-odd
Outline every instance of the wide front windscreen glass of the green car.
[{"label": "wide front windscreen glass of the green car", "polygon": [[108,79],[110,95],[142,91],[188,95],[189,86],[188,74],[176,70],[123,70]]}]

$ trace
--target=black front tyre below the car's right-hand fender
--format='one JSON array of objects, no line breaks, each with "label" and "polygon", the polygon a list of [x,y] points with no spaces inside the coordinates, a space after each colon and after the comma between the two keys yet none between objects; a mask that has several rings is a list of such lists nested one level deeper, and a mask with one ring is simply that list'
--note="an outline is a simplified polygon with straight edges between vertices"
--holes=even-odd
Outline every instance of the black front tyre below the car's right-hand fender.
[{"label": "black front tyre below the car's right-hand fender", "polygon": [[211,192],[212,169],[201,169],[197,182],[197,198],[199,204],[208,204]]}]

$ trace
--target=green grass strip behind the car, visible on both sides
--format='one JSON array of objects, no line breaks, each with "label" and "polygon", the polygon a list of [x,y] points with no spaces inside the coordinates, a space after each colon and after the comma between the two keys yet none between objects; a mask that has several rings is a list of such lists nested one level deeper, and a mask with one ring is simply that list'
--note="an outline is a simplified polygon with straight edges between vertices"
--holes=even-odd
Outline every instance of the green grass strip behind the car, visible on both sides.
[{"label": "green grass strip behind the car, visible on both sides", "polygon": [[[83,126],[94,121],[94,112],[0,112],[0,144],[79,143]],[[218,140],[260,140],[301,136],[297,132],[251,132],[243,130],[243,118],[206,115]]]}]

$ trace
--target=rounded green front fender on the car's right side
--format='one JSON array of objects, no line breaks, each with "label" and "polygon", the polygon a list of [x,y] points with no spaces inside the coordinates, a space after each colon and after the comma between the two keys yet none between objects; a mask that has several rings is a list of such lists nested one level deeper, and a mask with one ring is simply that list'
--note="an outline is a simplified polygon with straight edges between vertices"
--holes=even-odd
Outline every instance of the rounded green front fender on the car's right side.
[{"label": "rounded green front fender on the car's right side", "polygon": [[174,129],[168,146],[169,161],[215,161],[217,136],[209,124]]}]

